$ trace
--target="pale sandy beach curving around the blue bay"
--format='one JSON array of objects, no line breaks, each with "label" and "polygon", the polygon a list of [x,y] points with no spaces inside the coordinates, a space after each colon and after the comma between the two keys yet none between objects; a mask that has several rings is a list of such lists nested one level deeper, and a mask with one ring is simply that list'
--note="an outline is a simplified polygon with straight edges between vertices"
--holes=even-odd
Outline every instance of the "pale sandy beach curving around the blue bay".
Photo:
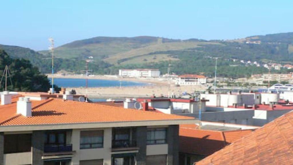
[{"label": "pale sandy beach curving around the blue bay", "polygon": [[[50,78],[50,75],[48,75]],[[55,78],[86,78],[84,75],[54,75]],[[207,86],[193,85],[193,86],[180,86],[176,87],[173,83],[164,78],[119,78],[114,76],[95,75],[89,76],[89,79],[105,79],[105,80],[125,80],[125,81],[139,81],[144,83],[152,83],[149,86],[134,86],[134,87],[90,87],[87,89],[89,98],[125,98],[125,97],[149,97],[167,96],[172,93],[175,95],[182,94],[183,92],[192,93],[194,91],[206,90]],[[68,90],[74,89],[77,94],[86,95],[86,88],[67,88]]]}]

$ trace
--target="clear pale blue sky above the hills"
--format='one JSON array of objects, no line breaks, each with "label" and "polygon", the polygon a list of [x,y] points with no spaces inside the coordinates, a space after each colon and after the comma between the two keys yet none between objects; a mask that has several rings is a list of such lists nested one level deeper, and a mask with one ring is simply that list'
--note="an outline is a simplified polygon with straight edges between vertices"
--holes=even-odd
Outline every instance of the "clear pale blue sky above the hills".
[{"label": "clear pale blue sky above the hills", "polygon": [[0,44],[44,50],[96,36],[234,39],[293,31],[291,0],[1,1]]}]

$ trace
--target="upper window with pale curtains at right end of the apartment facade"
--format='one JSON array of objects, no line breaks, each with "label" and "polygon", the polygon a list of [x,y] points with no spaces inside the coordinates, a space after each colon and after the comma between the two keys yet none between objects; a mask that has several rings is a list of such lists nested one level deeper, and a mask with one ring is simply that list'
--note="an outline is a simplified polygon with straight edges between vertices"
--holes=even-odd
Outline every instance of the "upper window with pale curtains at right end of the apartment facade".
[{"label": "upper window with pale curtains at right end of the apartment facade", "polygon": [[152,128],[147,131],[147,144],[164,144],[166,140],[166,128]]}]

